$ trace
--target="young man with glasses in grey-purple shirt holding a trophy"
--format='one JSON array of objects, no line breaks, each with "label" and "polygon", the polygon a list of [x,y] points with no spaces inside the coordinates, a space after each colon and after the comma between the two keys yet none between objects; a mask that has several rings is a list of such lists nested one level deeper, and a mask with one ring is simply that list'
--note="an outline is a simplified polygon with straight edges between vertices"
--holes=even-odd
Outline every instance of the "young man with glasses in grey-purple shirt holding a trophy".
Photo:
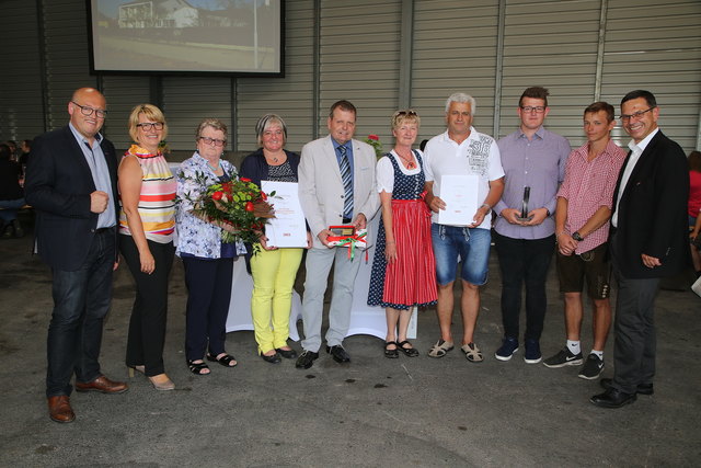
[{"label": "young man with glasses in grey-purple shirt holding a trophy", "polygon": [[[498,216],[494,225],[496,254],[502,271],[504,324],[504,341],[494,353],[498,361],[509,361],[518,351],[524,285],[524,361],[527,364],[542,361],[540,335],[548,307],[545,279],[555,250],[555,195],[572,151],[566,138],[543,127],[550,113],[549,94],[541,87],[526,89],[516,110],[520,118],[519,128],[498,140],[506,172],[506,187],[495,207]],[[526,193],[528,213],[522,213]]]}]

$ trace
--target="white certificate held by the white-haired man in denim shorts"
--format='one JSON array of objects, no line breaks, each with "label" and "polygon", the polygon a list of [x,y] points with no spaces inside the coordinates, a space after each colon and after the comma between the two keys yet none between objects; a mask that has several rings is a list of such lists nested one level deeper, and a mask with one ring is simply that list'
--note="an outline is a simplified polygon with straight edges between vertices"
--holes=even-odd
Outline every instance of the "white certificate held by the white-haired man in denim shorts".
[{"label": "white certificate held by the white-haired man in denim shorts", "polygon": [[440,178],[440,199],[446,209],[438,210],[438,222],[468,226],[478,212],[478,175],[444,175]]}]

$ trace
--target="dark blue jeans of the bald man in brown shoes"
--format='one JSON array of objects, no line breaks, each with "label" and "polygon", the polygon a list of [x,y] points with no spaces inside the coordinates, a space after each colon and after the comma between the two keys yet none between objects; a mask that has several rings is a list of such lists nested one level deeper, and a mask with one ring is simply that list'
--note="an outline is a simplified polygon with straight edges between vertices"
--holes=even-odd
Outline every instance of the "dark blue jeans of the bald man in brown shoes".
[{"label": "dark blue jeans of the bald man in brown shoes", "polygon": [[102,322],[112,299],[114,228],[93,237],[74,272],[53,270],[54,311],[48,327],[46,396],[70,395],[71,376],[89,383],[100,377]]}]

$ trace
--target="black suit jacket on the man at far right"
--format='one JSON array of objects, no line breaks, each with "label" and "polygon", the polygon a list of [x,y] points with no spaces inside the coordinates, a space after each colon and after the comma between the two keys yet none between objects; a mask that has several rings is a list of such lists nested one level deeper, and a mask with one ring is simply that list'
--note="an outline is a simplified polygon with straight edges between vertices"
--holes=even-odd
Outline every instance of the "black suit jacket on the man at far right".
[{"label": "black suit jacket on the man at far right", "polygon": [[[630,159],[625,158],[623,168]],[[613,193],[613,213],[623,169]],[[679,145],[658,132],[641,155],[618,206],[613,261],[629,278],[654,278],[679,272],[689,254],[687,199],[689,167]],[[648,269],[641,254],[659,259]]]}]

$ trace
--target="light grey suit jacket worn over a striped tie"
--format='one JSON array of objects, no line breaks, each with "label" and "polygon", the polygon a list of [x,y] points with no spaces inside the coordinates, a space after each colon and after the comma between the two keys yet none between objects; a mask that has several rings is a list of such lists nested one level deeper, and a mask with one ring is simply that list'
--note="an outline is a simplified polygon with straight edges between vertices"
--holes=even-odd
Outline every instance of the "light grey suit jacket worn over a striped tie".
[{"label": "light grey suit jacket worn over a striped tie", "polygon": [[[353,218],[363,213],[369,221],[380,206],[375,182],[377,158],[370,145],[355,139],[352,145]],[[331,136],[304,145],[299,163],[299,201],[311,228],[314,248],[326,248],[317,237],[319,232],[342,222],[343,195],[341,169]]]}]

